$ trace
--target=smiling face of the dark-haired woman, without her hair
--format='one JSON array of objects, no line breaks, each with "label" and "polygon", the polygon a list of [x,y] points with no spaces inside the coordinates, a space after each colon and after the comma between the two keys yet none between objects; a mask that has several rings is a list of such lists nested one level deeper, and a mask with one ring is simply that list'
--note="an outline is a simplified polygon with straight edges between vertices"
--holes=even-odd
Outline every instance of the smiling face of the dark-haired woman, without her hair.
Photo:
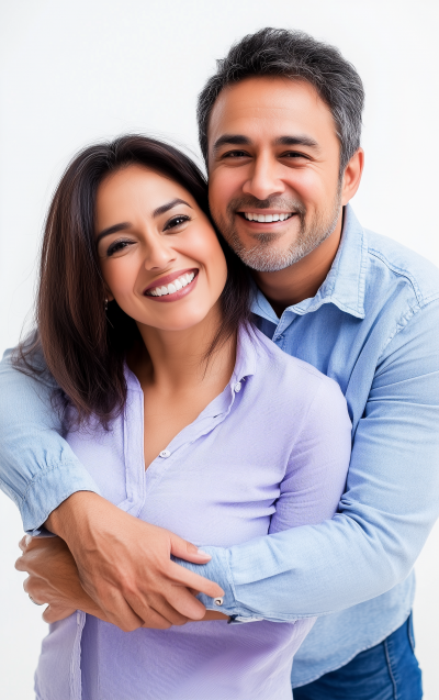
[{"label": "smiling face of the dark-haired woman, without her hair", "polygon": [[226,260],[209,219],[153,170],[132,165],[101,182],[95,236],[108,298],[139,325],[189,329],[224,289]]}]

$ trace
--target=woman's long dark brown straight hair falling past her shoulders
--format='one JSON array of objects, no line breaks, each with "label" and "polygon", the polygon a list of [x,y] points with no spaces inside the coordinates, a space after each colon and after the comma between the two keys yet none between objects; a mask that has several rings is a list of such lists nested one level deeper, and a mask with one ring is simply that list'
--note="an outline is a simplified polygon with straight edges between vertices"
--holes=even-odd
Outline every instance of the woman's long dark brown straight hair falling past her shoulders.
[{"label": "woman's long dark brown straight hair falling past her shoulders", "polygon": [[[16,348],[14,366],[35,378],[45,371],[58,385],[58,405],[76,409],[79,422],[94,415],[106,426],[126,400],[124,362],[139,332],[115,301],[104,309],[104,284],[94,242],[95,198],[110,173],[136,164],[184,187],[211,220],[207,185],[196,165],[166,143],[127,135],[89,146],[66,169],[52,201],[43,240],[36,330]],[[211,220],[212,221],[212,220]],[[218,236],[227,260],[221,296],[222,323],[210,348],[249,322],[249,279],[239,258]],[[42,370],[43,355],[47,369]]]}]

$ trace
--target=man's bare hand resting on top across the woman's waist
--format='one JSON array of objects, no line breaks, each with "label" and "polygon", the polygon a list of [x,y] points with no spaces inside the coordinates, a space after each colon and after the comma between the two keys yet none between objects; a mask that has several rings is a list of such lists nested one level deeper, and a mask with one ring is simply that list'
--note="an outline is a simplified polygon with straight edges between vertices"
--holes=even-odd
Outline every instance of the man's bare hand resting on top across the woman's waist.
[{"label": "man's bare hand resting on top across the woman's waist", "polygon": [[67,543],[80,584],[101,611],[97,616],[103,614],[125,632],[202,620],[205,608],[191,589],[211,598],[224,596],[217,584],[170,559],[173,554],[206,564],[209,555],[95,493],[70,496],[50,513],[46,527]]}]

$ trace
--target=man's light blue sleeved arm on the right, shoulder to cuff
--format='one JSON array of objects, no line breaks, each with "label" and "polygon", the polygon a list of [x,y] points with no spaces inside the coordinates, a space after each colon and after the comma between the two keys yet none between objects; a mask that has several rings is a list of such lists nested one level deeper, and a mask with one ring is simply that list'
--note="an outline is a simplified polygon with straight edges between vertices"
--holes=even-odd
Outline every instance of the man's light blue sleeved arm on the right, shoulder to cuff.
[{"label": "man's light blue sleeved arm on the right, shoulder to cuff", "polygon": [[435,301],[385,348],[333,520],[229,549],[204,547],[213,558],[196,570],[226,591],[223,612],[273,621],[323,615],[408,576],[439,515],[438,327]]}]

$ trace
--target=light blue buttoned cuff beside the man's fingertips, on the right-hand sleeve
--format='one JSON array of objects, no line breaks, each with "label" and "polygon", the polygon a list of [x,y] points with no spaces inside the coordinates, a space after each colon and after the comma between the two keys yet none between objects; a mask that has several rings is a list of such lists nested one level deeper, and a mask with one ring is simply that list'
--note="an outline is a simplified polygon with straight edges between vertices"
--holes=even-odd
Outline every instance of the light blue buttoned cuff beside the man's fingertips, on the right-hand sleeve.
[{"label": "light blue buttoned cuff beside the man's fingertips, on the right-hand sleeve", "polygon": [[[215,581],[224,590],[222,599],[210,598],[205,593],[199,593],[196,598],[205,605],[206,610],[215,610],[230,616],[230,623],[256,622],[262,618],[255,616],[255,613],[240,605],[235,596],[232,571],[228,562],[228,549],[223,547],[202,547],[203,552],[210,554],[212,559],[207,564],[192,564],[184,559],[178,559],[171,555],[172,562],[183,566],[185,569],[199,574],[210,581]],[[216,601],[216,602],[215,602]],[[221,602],[219,602],[221,601]]]}]

